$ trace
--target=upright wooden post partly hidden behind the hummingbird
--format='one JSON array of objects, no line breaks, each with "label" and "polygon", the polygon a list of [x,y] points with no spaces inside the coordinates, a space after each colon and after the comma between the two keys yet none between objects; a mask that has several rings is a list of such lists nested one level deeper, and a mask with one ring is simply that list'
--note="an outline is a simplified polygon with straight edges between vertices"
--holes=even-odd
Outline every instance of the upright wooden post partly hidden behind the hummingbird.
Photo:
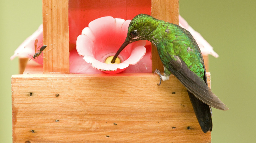
[{"label": "upright wooden post partly hidden behind the hummingbird", "polygon": [[[157,19],[179,24],[179,0],[152,0],[151,15]],[[159,69],[163,72],[163,64],[158,56],[157,48],[152,44],[152,72]]]}]

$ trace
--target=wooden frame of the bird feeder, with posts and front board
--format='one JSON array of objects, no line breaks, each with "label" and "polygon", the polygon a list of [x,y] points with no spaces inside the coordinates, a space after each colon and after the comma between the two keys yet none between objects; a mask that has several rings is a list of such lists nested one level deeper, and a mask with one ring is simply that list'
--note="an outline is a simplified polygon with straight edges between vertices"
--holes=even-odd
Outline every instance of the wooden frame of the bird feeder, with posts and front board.
[{"label": "wooden frame of the bird feeder, with posts and front board", "polygon": [[[43,40],[53,49],[44,54],[43,66],[26,66],[27,59],[20,59],[23,74],[12,75],[13,142],[211,142],[211,133],[201,131],[187,90],[176,77],[158,86],[159,76],[153,73],[69,74],[72,2],[43,0]],[[149,9],[152,16],[178,24],[178,3],[95,0],[85,6],[98,12],[88,13],[94,19],[104,16],[102,9],[115,8],[110,16],[124,19]],[[204,59],[208,67],[208,57]],[[163,71],[153,47],[152,71],[156,68]]]}]

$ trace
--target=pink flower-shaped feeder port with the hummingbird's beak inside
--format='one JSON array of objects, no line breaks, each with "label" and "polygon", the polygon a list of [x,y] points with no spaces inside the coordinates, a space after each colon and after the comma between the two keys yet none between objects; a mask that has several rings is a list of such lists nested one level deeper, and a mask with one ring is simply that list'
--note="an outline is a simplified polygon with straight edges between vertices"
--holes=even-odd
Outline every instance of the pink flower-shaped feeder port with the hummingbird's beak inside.
[{"label": "pink flower-shaped feeder port with the hummingbird's beak inside", "polygon": [[146,53],[146,41],[129,44],[118,56],[122,61],[120,64],[105,63],[105,59],[114,56],[125,41],[130,21],[111,16],[91,21],[77,37],[78,54],[94,68],[106,73],[119,73],[129,65],[137,64]]}]

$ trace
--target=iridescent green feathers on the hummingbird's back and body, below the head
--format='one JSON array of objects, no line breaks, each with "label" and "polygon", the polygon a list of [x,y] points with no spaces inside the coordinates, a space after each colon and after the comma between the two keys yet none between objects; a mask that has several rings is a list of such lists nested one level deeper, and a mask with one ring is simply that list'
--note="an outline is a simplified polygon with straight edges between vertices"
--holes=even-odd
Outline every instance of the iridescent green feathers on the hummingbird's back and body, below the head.
[{"label": "iridescent green feathers on the hummingbird's back and body, below the head", "polygon": [[[203,79],[204,67],[201,51],[192,35],[178,25],[156,19],[155,21],[159,21],[157,22],[159,25],[151,33],[154,38],[149,37],[147,40],[156,43],[155,45],[164,66],[168,68],[170,60],[177,60],[174,55],[179,56],[191,71]],[[160,42],[159,39],[163,41]]]}]

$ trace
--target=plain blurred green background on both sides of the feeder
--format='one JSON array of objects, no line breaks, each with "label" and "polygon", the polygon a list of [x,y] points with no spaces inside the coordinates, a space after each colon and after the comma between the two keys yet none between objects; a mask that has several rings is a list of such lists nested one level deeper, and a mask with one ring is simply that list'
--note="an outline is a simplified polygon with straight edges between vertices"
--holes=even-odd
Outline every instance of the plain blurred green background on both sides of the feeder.
[{"label": "plain blurred green background on both sides of the feeder", "polygon": [[[180,0],[180,15],[219,54],[209,57],[213,92],[230,108],[213,109],[213,143],[256,141],[256,1]],[[11,75],[14,50],[42,23],[41,0],[0,1],[0,143],[12,142]]]}]

